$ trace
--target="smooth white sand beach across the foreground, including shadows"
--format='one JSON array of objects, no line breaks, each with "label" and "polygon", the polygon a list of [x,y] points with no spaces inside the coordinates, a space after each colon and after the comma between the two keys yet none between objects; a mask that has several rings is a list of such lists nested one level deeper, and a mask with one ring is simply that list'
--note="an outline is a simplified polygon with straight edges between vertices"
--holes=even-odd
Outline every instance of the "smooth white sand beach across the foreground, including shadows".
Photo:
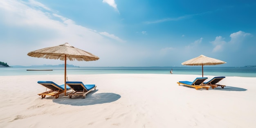
[{"label": "smooth white sand beach across the foreground, including shadows", "polygon": [[201,76],[69,75],[69,81],[95,84],[97,90],[85,99],[41,99],[37,94],[46,88],[37,81],[61,85],[64,75],[0,76],[0,128],[255,128],[256,78],[226,77],[220,81],[224,89],[177,84],[196,77]]}]

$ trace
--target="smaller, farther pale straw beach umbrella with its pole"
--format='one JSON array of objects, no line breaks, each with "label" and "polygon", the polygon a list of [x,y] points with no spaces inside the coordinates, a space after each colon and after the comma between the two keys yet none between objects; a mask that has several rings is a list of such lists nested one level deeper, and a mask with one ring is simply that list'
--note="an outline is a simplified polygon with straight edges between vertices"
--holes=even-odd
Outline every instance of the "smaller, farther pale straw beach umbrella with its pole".
[{"label": "smaller, farther pale straw beach umbrella with its pole", "polygon": [[192,58],[188,61],[181,63],[182,65],[202,65],[202,77],[204,77],[203,65],[220,65],[226,63],[225,61],[220,61],[216,58],[207,57],[200,55],[196,58]]}]

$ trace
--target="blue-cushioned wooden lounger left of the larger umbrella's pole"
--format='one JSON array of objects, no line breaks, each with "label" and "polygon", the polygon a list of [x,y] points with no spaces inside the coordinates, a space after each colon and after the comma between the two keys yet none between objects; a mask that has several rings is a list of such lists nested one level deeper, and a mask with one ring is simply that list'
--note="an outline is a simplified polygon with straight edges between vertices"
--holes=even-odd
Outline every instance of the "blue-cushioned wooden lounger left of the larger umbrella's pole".
[{"label": "blue-cushioned wooden lounger left of the larger umbrella's pole", "polygon": [[[45,98],[46,95],[50,95],[52,97],[58,98],[59,94],[64,93],[64,84],[63,85],[57,85],[56,83],[52,81],[38,81],[40,85],[43,85],[46,87],[46,92],[39,93],[38,95],[42,98]],[[50,89],[47,91],[47,89]],[[67,90],[70,90],[71,88],[67,87]]]}]

